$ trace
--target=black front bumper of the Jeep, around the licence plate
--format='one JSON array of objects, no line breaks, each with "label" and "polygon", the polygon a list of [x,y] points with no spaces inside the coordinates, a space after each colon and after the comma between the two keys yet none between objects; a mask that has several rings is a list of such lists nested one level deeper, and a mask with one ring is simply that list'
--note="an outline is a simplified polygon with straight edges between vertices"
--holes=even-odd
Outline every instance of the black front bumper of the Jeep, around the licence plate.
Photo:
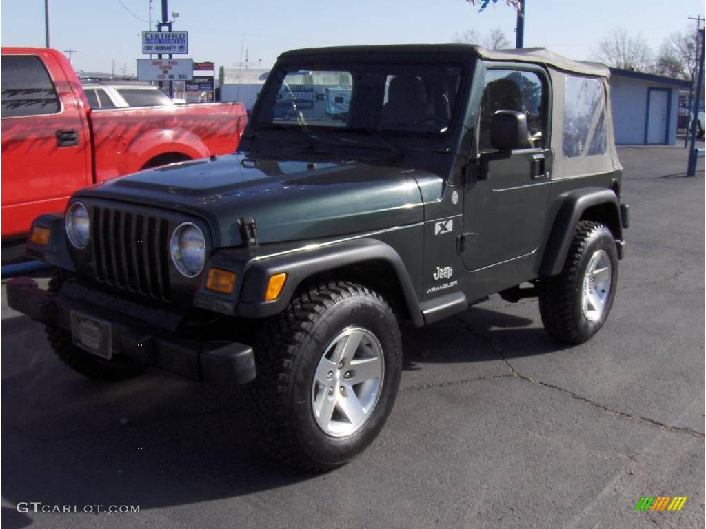
[{"label": "black front bumper of the Jeep, around the licence plate", "polygon": [[[71,312],[108,322],[114,353],[210,384],[245,384],[256,376],[253,348],[229,341],[195,341],[177,336],[181,317],[159,308],[65,283],[58,293],[33,279],[6,284],[8,304],[47,325],[71,332]],[[87,353],[88,354],[88,353]]]}]

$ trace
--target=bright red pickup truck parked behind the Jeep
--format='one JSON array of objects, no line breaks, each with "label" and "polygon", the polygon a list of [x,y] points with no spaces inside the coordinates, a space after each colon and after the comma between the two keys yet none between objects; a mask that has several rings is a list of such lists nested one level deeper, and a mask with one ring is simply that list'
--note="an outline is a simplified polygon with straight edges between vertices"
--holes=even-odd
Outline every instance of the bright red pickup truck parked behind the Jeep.
[{"label": "bright red pickup truck parked behind the Jeep", "polygon": [[23,236],[74,191],[237,150],[241,103],[91,109],[64,54],[2,49],[2,238]]}]

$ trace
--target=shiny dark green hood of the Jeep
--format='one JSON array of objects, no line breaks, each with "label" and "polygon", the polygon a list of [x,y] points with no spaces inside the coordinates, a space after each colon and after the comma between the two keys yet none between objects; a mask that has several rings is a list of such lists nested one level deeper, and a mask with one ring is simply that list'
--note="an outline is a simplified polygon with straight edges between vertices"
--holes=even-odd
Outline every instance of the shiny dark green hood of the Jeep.
[{"label": "shiny dark green hood of the Jeep", "polygon": [[141,171],[78,195],[197,215],[208,221],[220,247],[241,244],[241,217],[255,219],[262,244],[421,222],[413,174],[399,166],[237,153]]}]

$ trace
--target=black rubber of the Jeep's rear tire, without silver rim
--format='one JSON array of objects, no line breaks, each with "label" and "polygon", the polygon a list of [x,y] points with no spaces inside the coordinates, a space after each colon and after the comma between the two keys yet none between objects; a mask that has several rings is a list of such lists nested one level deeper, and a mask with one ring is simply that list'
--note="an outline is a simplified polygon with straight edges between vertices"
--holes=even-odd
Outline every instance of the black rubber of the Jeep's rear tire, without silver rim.
[{"label": "black rubber of the Jeep's rear tire, without silver rim", "polygon": [[[586,317],[582,292],[587,267],[593,255],[604,252],[610,263],[610,290],[602,314]],[[598,222],[581,221],[560,274],[542,278],[539,285],[539,314],[546,332],[563,343],[576,345],[596,334],[611,311],[618,283],[618,252],[611,231]]]}]

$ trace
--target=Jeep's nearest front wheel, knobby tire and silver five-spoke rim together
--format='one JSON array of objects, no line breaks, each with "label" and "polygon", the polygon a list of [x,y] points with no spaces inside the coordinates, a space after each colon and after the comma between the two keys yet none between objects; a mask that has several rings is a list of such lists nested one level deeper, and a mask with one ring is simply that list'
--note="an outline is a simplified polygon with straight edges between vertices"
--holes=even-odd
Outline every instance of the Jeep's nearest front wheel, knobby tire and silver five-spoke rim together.
[{"label": "Jeep's nearest front wheel, knobby tire and silver five-spoke rim together", "polygon": [[265,452],[299,470],[330,470],[373,442],[395,403],[402,345],[388,303],[332,282],[292,299],[257,348],[249,411]]}]

